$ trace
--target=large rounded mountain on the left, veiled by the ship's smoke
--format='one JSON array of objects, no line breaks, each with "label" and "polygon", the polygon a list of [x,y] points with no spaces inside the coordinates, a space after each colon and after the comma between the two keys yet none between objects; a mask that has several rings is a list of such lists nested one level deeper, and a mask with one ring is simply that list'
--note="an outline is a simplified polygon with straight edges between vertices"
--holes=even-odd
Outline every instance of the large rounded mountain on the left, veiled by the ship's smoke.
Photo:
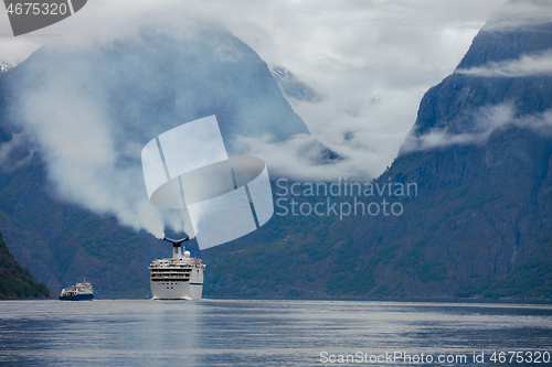
[{"label": "large rounded mountain on the left, veiled by the ship's smoke", "polygon": [[[91,117],[97,115],[99,121]],[[85,159],[93,162],[104,153],[102,147],[86,152],[84,144],[67,142],[71,138],[64,137],[75,134],[65,130],[82,129],[77,141],[87,143],[94,139],[86,136],[89,131],[108,125],[105,133],[116,142],[115,168],[136,172],[132,186],[145,196],[141,147],[209,115],[216,115],[230,153],[235,134],[269,133],[284,140],[308,133],[267,65],[216,28],[182,36],[145,29],[103,46],[54,44],[0,74],[0,230],[15,259],[54,291],[86,277],[98,298],[146,296],[147,266],[169,256],[170,246],[121,226],[109,213],[97,215],[67,199],[71,195],[52,177],[56,168],[74,166],[57,164],[56,147],[44,144],[40,134],[50,134],[53,144],[73,143],[70,160],[88,154]],[[57,118],[70,123],[61,126]],[[96,126],[88,129],[92,123]],[[108,173],[96,175],[109,181]],[[65,179],[79,174],[68,172]],[[190,244],[195,255],[197,244]]]}]

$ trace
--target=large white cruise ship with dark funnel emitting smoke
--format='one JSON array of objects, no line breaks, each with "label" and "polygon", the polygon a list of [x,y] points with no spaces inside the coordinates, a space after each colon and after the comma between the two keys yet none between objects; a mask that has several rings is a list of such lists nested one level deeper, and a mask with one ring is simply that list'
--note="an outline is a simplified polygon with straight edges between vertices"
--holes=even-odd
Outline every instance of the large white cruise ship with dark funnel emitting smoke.
[{"label": "large white cruise ship with dark funnel emitting smoke", "polygon": [[182,252],[181,245],[189,238],[163,240],[172,244],[172,259],[153,260],[148,267],[153,300],[201,300],[205,265],[190,258],[190,251]]}]

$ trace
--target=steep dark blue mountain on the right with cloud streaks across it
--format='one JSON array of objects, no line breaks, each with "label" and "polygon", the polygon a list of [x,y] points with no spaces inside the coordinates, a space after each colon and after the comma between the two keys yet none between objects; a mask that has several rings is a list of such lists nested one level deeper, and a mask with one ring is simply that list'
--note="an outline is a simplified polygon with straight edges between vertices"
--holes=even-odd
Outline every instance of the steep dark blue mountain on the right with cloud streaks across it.
[{"label": "steep dark blue mountain on the right with cloud streaks across it", "polygon": [[[552,23],[493,19],[423,97],[400,155],[372,183],[383,195],[330,196],[338,209],[385,198],[402,215],[276,217],[245,245],[204,251],[206,293],[552,298],[552,76],[513,67],[550,52]],[[505,65],[507,75],[492,72]],[[394,195],[408,183],[417,195]],[[327,196],[280,197],[298,211]]]}]

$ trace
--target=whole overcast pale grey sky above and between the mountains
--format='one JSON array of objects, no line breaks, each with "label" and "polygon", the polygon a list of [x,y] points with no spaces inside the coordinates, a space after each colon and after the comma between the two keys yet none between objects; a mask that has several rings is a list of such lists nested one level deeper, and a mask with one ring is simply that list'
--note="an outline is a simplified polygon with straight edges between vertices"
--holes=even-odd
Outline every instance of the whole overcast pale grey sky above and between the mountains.
[{"label": "whole overcast pale grey sky above and between the mountains", "polygon": [[[10,36],[2,8],[0,61],[17,64],[44,43],[78,33],[107,42],[113,34],[120,36],[126,25],[146,19],[161,23],[209,19],[326,97],[318,104],[290,104],[314,137],[347,159],[332,170],[298,162],[295,173],[368,180],[391,164],[415,121],[423,94],[453,72],[502,2],[91,0],[73,17],[18,37]],[[280,148],[258,141],[253,152],[270,155]],[[278,160],[272,160],[278,169]]]}]

